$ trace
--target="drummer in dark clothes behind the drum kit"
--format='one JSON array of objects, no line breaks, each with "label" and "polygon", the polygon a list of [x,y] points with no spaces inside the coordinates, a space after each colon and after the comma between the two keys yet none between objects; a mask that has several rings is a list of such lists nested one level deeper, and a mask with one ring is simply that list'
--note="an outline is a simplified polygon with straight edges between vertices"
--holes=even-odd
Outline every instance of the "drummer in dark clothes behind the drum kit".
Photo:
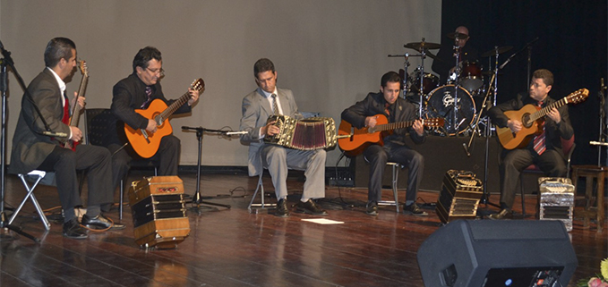
[{"label": "drummer in dark clothes behind the drum kit", "polygon": [[437,53],[438,59],[432,61],[432,71],[439,74],[441,85],[446,84],[450,79],[450,74],[454,73],[454,63],[456,63],[454,44],[458,43],[458,46],[460,47],[460,55],[458,58],[460,63],[464,61],[476,62],[479,57],[477,49],[470,44],[467,45],[467,42],[470,39],[467,27],[459,26],[454,33],[450,33],[450,35],[455,35],[455,37],[452,38],[456,40],[456,43],[455,41],[450,41],[449,45],[441,46],[441,49]]}]

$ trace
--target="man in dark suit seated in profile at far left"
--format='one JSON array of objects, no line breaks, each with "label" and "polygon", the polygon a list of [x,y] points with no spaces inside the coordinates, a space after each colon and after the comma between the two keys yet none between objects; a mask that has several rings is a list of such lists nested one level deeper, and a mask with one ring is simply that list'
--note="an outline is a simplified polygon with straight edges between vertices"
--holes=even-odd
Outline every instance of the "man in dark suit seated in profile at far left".
[{"label": "man in dark suit seated in profile at far left", "polygon": [[[53,38],[47,44],[44,58],[47,67],[28,86],[31,98],[24,95],[21,99],[9,172],[29,173],[34,169],[55,172],[57,192],[64,208],[64,236],[84,239],[87,232],[74,212],[74,207],[81,206],[76,171],[88,169],[89,198],[81,224],[90,228],[122,229],[124,224],[113,224],[100,213],[102,204],[113,201],[112,190],[104,184],[112,175],[107,149],[78,145],[73,151],[62,147],[67,140],[82,139],[82,131],[66,123],[70,106],[64,80],[73,74],[76,66],[76,45],[69,38]],[[84,106],[84,97],[79,97],[74,105]],[[35,111],[36,106],[40,114]]]}]

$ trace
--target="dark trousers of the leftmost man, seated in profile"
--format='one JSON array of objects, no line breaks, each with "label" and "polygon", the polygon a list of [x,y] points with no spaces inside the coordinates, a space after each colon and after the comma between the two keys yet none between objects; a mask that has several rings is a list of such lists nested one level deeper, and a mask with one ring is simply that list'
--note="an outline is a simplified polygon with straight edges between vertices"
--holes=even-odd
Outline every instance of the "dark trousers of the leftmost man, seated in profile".
[{"label": "dark trousers of the leftmost man, seated in profile", "polygon": [[107,148],[78,145],[76,151],[56,148],[39,165],[38,169],[55,172],[57,192],[64,210],[82,205],[78,190],[77,171],[88,169],[88,207],[100,206],[114,201],[112,188],[107,185],[111,178],[111,159]]}]

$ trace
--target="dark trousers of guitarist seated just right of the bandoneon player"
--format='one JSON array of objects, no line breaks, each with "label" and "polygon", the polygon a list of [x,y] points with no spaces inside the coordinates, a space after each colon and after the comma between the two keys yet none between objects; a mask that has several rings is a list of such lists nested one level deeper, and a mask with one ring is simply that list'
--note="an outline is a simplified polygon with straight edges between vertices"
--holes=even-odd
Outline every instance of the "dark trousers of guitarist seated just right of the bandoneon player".
[{"label": "dark trousers of guitarist seated just right of the bandoneon player", "polygon": [[364,150],[364,157],[370,163],[370,182],[367,200],[378,202],[382,194],[382,174],[386,163],[391,161],[407,166],[406,201],[415,201],[418,187],[423,179],[424,156],[414,149],[393,142],[384,146],[371,145]]}]

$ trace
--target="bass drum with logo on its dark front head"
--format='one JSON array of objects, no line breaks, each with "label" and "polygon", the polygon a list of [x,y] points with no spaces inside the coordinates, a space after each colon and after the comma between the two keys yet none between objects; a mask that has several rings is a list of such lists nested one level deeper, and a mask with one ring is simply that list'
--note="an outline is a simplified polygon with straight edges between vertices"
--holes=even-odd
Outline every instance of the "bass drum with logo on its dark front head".
[{"label": "bass drum with logo on its dark front head", "polygon": [[458,87],[458,114],[454,118],[454,85],[433,89],[426,106],[426,118],[443,118],[444,129],[450,136],[467,131],[475,119],[475,102],[467,89]]}]

